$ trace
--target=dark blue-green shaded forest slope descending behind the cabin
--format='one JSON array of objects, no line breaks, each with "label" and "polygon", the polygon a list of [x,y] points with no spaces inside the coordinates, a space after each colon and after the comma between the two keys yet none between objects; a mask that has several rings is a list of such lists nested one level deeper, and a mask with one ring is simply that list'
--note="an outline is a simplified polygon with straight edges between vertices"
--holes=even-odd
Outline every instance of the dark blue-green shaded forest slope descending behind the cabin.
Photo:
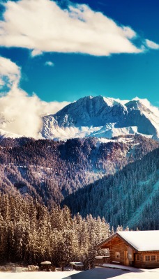
[{"label": "dark blue-green shaded forest slope descending behind the cabin", "polygon": [[159,229],[159,149],[79,189],[63,204],[83,217],[104,216],[115,228]]}]

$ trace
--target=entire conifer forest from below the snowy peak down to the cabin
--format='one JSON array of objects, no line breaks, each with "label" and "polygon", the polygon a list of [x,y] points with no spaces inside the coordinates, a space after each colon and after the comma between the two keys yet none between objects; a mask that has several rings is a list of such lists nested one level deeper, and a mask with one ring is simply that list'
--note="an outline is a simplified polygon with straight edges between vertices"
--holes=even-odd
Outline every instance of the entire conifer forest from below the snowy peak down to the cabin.
[{"label": "entire conifer forest from below the snowy peak down to the cabin", "polygon": [[1,139],[0,263],[87,269],[114,230],[159,229],[158,146],[141,135]]}]

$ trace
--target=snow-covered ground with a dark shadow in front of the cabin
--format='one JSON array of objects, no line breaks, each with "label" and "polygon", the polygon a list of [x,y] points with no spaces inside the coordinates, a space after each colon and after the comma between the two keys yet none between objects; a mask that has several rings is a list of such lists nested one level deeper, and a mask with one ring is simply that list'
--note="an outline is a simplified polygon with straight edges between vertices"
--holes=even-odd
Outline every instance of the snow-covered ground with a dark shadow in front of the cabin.
[{"label": "snow-covered ground with a dark shadow in front of the cabin", "polygon": [[158,279],[159,269],[121,269],[96,268],[90,271],[64,271],[64,272],[1,272],[0,279]]}]

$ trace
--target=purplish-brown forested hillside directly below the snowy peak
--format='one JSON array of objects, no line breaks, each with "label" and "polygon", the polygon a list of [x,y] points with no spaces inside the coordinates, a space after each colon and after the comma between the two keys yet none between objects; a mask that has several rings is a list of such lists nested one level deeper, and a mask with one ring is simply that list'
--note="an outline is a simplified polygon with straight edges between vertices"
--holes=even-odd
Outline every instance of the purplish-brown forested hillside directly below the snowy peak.
[{"label": "purplish-brown forested hillside directly below the snowy peak", "polygon": [[141,135],[66,142],[1,138],[0,190],[31,196],[46,205],[59,203],[158,147],[158,142]]}]

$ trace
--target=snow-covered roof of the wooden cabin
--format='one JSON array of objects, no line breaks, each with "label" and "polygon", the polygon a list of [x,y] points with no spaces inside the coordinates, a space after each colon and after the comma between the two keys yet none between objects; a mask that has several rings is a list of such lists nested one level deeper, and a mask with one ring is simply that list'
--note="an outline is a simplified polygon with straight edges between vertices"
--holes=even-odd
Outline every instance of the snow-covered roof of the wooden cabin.
[{"label": "snow-covered roof of the wooden cabin", "polygon": [[125,241],[130,247],[137,251],[159,251],[159,230],[158,231],[126,231],[116,232],[105,241],[98,244],[97,248],[105,246],[116,236]]}]

